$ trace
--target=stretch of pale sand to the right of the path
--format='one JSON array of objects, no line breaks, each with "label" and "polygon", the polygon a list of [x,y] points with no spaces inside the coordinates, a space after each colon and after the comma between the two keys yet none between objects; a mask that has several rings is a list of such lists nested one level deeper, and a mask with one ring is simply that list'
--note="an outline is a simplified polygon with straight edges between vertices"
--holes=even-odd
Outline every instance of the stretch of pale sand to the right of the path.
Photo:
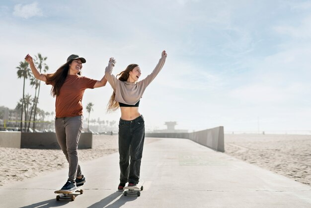
[{"label": "stretch of pale sand to the right of the path", "polygon": [[225,151],[311,186],[311,135],[225,134]]}]

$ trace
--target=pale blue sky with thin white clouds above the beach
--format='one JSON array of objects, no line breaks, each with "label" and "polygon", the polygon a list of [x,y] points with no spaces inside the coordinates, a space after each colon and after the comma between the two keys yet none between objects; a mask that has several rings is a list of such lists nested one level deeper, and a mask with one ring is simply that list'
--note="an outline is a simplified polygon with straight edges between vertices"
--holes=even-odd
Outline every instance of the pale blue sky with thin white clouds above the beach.
[{"label": "pale blue sky with thin white clouds above the beach", "polygon": [[[0,0],[0,25],[0,105],[22,97],[16,67],[28,53],[48,57],[50,73],[78,54],[83,76],[100,80],[110,57],[115,75],[136,63],[144,78],[166,50],[140,102],[146,130],[311,130],[311,1]],[[42,83],[39,97],[49,112],[50,90]],[[106,112],[111,94],[85,90],[91,119],[119,120]]]}]

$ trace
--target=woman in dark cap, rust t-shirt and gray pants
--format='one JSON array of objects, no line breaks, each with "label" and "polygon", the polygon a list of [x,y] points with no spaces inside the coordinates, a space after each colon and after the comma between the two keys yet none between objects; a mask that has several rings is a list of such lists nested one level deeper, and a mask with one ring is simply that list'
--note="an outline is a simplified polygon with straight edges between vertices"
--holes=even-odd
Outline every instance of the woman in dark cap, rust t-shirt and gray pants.
[{"label": "woman in dark cap, rust t-shirt and gray pants", "polygon": [[83,123],[81,103],[83,93],[87,88],[105,86],[107,79],[104,76],[97,81],[81,76],[82,63],[86,61],[75,54],[70,55],[67,62],[53,74],[41,74],[29,54],[25,60],[36,79],[52,85],[51,94],[56,97],[56,137],[69,162],[69,177],[61,190],[75,192],[77,185],[85,183],[85,177],[78,164],[78,141]]}]

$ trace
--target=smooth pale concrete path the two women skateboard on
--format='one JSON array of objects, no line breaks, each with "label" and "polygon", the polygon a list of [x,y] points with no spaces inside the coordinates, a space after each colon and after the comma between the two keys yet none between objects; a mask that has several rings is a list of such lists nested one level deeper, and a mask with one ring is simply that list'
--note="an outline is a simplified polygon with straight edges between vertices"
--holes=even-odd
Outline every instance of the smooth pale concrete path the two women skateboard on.
[{"label": "smooth pale concrete path the two women skateboard on", "polygon": [[[148,139],[148,138],[146,138]],[[145,145],[144,191],[123,196],[117,153],[81,164],[87,182],[76,200],[56,201],[67,169],[0,187],[1,208],[310,208],[311,187],[188,139]]]}]

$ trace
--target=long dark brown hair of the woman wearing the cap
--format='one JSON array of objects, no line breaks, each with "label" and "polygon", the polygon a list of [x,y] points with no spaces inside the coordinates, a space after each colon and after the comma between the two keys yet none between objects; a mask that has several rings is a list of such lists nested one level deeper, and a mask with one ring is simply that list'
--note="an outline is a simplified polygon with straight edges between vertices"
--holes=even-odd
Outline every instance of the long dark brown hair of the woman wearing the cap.
[{"label": "long dark brown hair of the woman wearing the cap", "polygon": [[[47,84],[52,85],[51,89],[51,95],[53,97],[59,96],[60,95],[60,90],[61,87],[64,85],[65,80],[68,75],[69,71],[69,65],[73,62],[74,60],[68,61],[66,64],[62,65],[54,74],[49,74],[46,76],[47,79]],[[78,73],[78,75],[81,75],[81,71]]]}]

